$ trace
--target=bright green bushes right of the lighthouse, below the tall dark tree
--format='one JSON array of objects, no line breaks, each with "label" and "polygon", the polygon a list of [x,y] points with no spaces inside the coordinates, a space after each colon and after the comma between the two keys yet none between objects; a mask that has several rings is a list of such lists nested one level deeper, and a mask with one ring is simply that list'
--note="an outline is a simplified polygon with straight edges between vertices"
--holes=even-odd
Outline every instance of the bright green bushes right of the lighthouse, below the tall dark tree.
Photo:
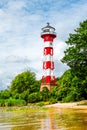
[{"label": "bright green bushes right of the lighthouse, below the tall dark tree", "polygon": [[55,90],[58,101],[73,102],[86,99],[87,87],[85,89],[82,87],[82,80],[74,76],[71,69],[63,74],[59,82],[60,86]]}]

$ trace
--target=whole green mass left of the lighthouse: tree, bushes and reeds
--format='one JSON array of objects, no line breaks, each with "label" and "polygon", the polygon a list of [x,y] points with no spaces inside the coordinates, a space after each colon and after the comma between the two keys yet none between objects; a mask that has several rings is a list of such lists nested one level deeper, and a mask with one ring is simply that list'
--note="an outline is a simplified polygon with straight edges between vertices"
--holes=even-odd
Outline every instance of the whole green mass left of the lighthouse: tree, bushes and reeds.
[{"label": "whole green mass left of the lighthouse: tree, bushes and reeds", "polygon": [[[18,74],[11,83],[8,90],[0,92],[1,106],[21,105],[22,101],[26,103],[39,102],[42,100],[42,95],[39,92],[41,81],[37,81],[35,74],[30,71],[25,71]],[[3,100],[6,99],[6,100]]]}]

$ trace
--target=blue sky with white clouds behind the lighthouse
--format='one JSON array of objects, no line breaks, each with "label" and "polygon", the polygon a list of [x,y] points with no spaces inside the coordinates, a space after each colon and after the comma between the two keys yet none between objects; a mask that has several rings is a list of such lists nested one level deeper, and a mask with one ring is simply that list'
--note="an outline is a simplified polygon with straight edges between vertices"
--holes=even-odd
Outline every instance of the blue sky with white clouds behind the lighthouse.
[{"label": "blue sky with white clouds behind the lighthouse", "polygon": [[55,75],[68,67],[61,63],[65,41],[87,19],[87,0],[0,0],[0,90],[26,70],[42,77],[44,42],[41,28],[49,22],[56,29]]}]

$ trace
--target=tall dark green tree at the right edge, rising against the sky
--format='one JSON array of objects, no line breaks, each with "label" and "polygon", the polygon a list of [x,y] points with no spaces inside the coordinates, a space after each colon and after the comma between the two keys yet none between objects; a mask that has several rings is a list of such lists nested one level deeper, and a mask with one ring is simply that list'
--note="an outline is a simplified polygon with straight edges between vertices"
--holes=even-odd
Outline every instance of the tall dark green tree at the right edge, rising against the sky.
[{"label": "tall dark green tree at the right edge, rising against the sky", "polygon": [[66,63],[76,76],[84,79],[87,75],[87,20],[80,23],[79,28],[74,31],[66,41],[69,48],[65,50],[62,62]]}]

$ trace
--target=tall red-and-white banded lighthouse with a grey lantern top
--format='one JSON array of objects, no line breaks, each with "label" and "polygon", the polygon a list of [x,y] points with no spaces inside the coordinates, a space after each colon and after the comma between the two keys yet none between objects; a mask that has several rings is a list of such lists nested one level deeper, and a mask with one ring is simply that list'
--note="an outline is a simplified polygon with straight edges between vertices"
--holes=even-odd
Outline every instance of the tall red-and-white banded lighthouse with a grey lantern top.
[{"label": "tall red-and-white banded lighthouse with a grey lantern top", "polygon": [[43,75],[42,75],[42,83],[40,87],[40,91],[44,87],[51,90],[51,87],[56,85],[56,79],[54,76],[54,49],[53,49],[53,41],[56,38],[55,28],[51,27],[49,23],[47,23],[46,27],[42,28],[41,38],[44,40],[44,50],[43,50]]}]

